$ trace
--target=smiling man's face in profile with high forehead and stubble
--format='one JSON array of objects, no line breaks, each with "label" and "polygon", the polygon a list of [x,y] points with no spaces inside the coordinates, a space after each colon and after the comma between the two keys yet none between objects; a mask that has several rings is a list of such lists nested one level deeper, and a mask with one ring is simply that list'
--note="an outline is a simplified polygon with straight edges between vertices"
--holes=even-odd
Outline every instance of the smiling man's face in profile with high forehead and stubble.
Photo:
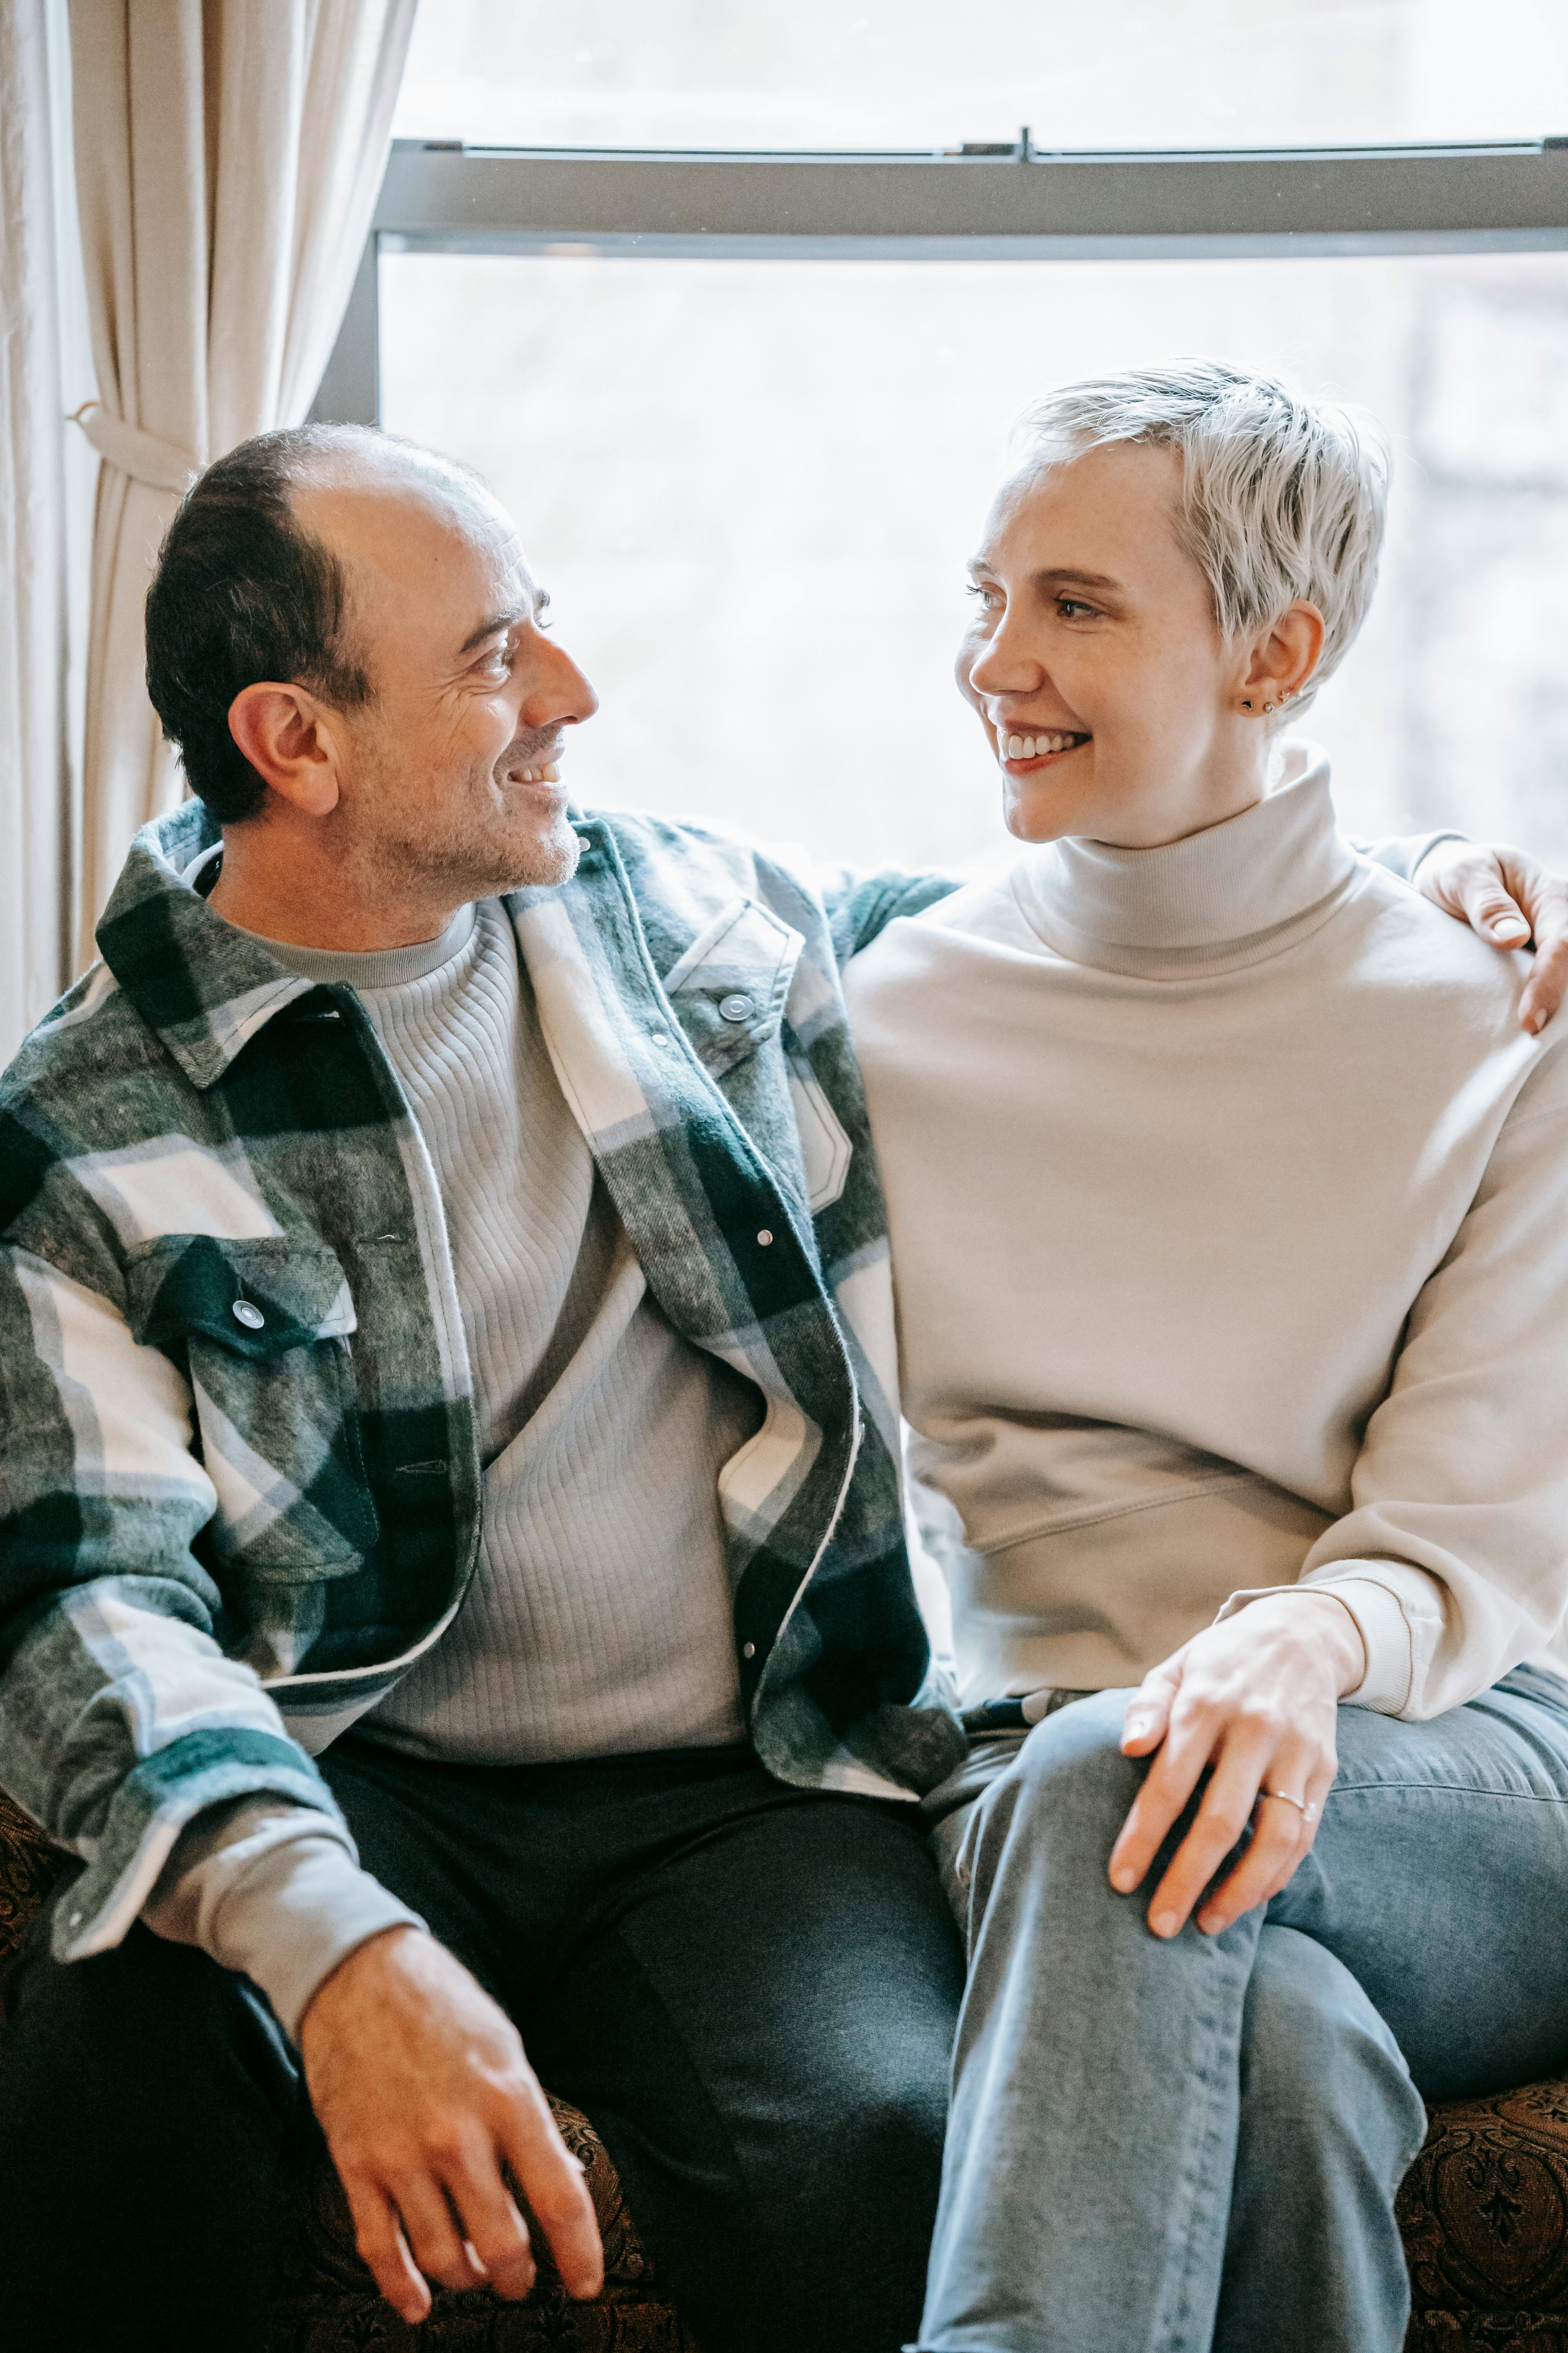
[{"label": "smiling man's face in profile with high forehead and stubble", "polygon": [[578,842],[557,760],[597,696],[543,633],[503,508],[390,459],[310,478],[294,513],[343,562],[346,638],[371,678],[369,704],[334,713],[341,856],[451,904],[564,882]]}]

